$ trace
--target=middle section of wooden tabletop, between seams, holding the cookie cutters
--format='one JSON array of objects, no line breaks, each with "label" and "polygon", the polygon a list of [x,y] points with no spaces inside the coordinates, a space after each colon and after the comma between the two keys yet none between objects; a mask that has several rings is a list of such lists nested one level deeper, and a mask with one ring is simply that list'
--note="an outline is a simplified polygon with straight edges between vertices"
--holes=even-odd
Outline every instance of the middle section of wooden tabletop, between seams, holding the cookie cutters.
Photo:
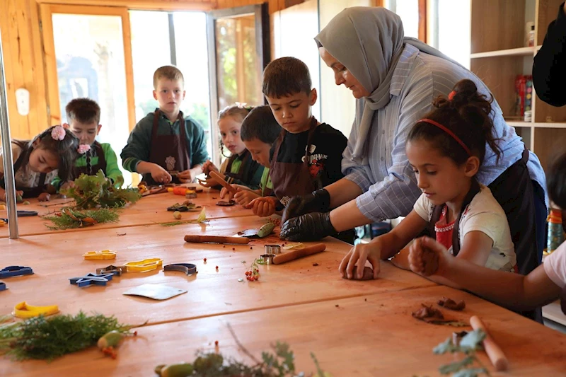
[{"label": "middle section of wooden tabletop, between seams, holding the cookie cutters", "polygon": [[[334,238],[324,240],[327,251],[284,265],[261,266],[260,281],[247,282],[246,269],[255,257],[263,254],[262,245],[277,242],[275,234],[254,240],[253,246],[226,245],[225,248],[223,245],[185,243],[183,240],[185,233],[232,236],[244,228],[258,228],[262,224],[265,224],[265,219],[246,216],[215,219],[202,226],[135,226],[88,233],[56,233],[48,239],[46,236],[27,236],[20,240],[0,240],[4,267],[24,265],[32,267],[35,272],[32,276],[4,280],[8,291],[2,292],[0,313],[8,313],[16,303],[27,301],[30,305],[39,306],[57,304],[63,313],[77,313],[82,309],[115,314],[125,323],[143,323],[145,320],[163,323],[435,285],[388,263],[383,263],[381,277],[376,281],[342,279],[337,267],[342,256],[350,250],[350,245]],[[117,236],[122,233],[125,236]],[[98,240],[104,242],[98,243]],[[117,250],[117,259],[83,260],[83,253],[93,249]],[[69,278],[95,272],[96,267],[122,265],[151,257],[161,257],[164,264],[194,263],[199,273],[195,277],[187,277],[181,272],[163,272],[160,269],[146,273],[128,272],[122,277],[115,277],[107,286],[78,288],[69,284]],[[205,257],[206,264],[203,262]],[[243,261],[246,263],[243,264]],[[318,266],[313,266],[313,263],[318,263]],[[216,266],[219,266],[218,271]],[[238,282],[240,278],[244,281]],[[188,292],[166,301],[122,294],[141,284],[167,284]]]}]

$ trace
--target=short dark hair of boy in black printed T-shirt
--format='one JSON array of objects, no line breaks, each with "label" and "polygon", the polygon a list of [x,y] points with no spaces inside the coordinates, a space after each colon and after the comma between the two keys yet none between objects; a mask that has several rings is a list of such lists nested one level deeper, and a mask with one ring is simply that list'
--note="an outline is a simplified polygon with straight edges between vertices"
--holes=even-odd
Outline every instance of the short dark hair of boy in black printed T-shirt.
[{"label": "short dark hair of boy in black printed T-shirt", "polygon": [[308,66],[296,57],[280,57],[267,64],[263,71],[263,94],[267,97],[281,98],[312,89]]}]

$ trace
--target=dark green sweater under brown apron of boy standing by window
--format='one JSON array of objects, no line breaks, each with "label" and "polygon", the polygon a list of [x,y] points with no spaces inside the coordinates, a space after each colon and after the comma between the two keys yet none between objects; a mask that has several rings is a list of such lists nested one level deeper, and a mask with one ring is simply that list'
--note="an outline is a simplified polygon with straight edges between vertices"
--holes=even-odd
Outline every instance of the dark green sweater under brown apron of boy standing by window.
[{"label": "dark green sweater under brown apron of boy standing by window", "polygon": [[[149,153],[151,151],[151,129],[154,127],[154,113],[150,112],[129,134],[128,142],[120,157],[122,157],[122,166],[128,171],[137,173],[137,164],[141,161],[149,161]],[[180,134],[180,121],[171,122],[165,115],[159,117],[158,135]],[[185,117],[185,136],[187,143],[187,153],[189,154],[191,168],[195,165],[202,165],[208,160],[207,141],[204,138],[204,129],[192,120],[191,117]]]}]

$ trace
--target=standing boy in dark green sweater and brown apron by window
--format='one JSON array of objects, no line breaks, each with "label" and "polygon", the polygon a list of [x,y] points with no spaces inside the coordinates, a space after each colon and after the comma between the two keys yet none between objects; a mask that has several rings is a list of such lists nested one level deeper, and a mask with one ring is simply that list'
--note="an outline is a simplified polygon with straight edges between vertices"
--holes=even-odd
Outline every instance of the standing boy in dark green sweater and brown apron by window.
[{"label": "standing boy in dark green sweater and brown apron by window", "polygon": [[185,98],[185,80],[175,66],[154,73],[155,112],[140,120],[122,150],[122,166],[144,175],[149,185],[192,182],[207,161],[204,130],[179,110]]}]

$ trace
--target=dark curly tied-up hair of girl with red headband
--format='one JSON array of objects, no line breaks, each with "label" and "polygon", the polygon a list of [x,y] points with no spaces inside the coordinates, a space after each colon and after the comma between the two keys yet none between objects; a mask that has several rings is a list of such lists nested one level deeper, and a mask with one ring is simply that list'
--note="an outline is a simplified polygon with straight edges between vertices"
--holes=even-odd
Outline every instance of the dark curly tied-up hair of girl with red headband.
[{"label": "dark curly tied-up hair of girl with red headband", "polygon": [[[423,119],[437,122],[453,132],[468,147],[472,155],[480,159],[480,164],[485,157],[486,142],[499,161],[502,151],[493,136],[494,126],[490,117],[493,98],[478,93],[478,87],[468,79],[458,81],[449,97],[439,96],[434,100],[432,105],[436,109],[425,115]],[[466,149],[448,132],[427,122],[417,122],[410,130],[407,140],[429,141],[444,156],[451,158],[458,165],[465,163],[470,157]]]}]

